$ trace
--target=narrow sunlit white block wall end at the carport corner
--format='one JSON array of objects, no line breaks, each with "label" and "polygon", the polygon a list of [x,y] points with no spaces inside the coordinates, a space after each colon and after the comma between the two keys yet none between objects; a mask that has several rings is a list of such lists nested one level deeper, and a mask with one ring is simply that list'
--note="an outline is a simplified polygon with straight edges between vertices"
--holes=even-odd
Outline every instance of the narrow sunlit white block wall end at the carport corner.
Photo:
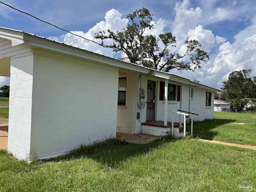
[{"label": "narrow sunlit white block wall end at the carport corner", "polygon": [[8,151],[19,159],[30,157],[34,56],[12,58]]}]

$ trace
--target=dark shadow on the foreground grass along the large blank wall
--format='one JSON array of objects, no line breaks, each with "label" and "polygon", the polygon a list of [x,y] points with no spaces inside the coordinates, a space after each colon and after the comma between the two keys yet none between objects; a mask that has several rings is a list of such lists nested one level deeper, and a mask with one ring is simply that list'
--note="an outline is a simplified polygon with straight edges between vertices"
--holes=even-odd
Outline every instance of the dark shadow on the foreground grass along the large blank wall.
[{"label": "dark shadow on the foreground grass along the large blank wall", "polygon": [[66,156],[54,159],[54,161],[72,160],[84,157],[96,160],[102,165],[117,168],[121,162],[129,158],[147,154],[161,147],[165,143],[175,141],[176,140],[172,140],[170,137],[166,137],[148,144],[132,144],[114,138],[104,142],[95,143],[91,146],[81,146],[79,149],[72,151]]}]

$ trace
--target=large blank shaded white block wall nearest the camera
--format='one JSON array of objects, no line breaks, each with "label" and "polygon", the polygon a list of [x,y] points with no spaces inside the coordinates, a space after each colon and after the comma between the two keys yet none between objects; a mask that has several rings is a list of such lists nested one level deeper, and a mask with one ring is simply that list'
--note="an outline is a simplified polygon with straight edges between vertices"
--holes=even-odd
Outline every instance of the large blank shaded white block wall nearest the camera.
[{"label": "large blank shaded white block wall nearest the camera", "polygon": [[116,136],[118,69],[34,56],[31,148],[38,158]]}]

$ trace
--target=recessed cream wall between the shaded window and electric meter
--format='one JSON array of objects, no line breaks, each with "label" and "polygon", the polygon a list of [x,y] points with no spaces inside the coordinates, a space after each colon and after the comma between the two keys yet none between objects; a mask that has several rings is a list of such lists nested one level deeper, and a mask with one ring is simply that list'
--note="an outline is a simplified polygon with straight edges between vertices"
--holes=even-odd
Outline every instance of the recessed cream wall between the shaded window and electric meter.
[{"label": "recessed cream wall between the shaded window and electric meter", "polygon": [[[138,129],[136,124],[138,74],[121,75],[119,77],[126,77],[126,106],[120,106],[117,109],[116,131],[133,134]],[[116,89],[118,89],[118,86]]]}]

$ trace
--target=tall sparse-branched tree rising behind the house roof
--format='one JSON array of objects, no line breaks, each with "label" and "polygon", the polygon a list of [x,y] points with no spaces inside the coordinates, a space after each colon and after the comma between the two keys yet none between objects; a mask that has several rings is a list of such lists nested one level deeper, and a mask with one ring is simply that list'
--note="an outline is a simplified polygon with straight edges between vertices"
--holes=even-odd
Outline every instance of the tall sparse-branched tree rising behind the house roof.
[{"label": "tall sparse-branched tree rising behind the house roof", "polygon": [[[200,49],[200,42],[189,40],[185,42],[186,52],[183,54],[171,53],[169,48],[175,47],[176,38],[171,32],[155,35],[145,34],[146,30],[153,29],[152,14],[146,8],[128,14],[130,21],[121,32],[110,29],[94,34],[94,38],[101,40],[101,45],[112,48],[114,52],[122,54],[121,59],[128,59],[134,64],[143,62],[143,65],[156,70],[168,72],[171,69],[191,70],[201,68],[202,62],[208,62],[209,55]],[[106,45],[104,40],[112,39],[113,43]]]}]

